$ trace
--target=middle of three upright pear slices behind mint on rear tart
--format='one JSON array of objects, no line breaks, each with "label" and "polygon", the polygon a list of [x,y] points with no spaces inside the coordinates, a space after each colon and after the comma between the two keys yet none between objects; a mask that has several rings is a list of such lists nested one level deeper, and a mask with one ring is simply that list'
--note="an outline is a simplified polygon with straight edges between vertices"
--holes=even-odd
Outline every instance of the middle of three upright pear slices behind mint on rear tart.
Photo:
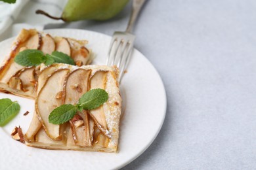
[{"label": "middle of three upright pear slices behind mint on rear tart", "polygon": [[40,50],[44,54],[51,54],[55,50],[55,42],[51,35],[47,34],[42,38],[42,44],[40,46]]}]

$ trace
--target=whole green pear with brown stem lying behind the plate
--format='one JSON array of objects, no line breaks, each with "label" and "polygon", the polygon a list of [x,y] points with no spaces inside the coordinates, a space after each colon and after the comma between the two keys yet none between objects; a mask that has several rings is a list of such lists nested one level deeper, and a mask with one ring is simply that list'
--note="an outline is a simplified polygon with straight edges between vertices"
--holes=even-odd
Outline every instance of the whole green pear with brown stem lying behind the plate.
[{"label": "whole green pear with brown stem lying behind the plate", "polygon": [[68,0],[61,17],[54,17],[43,10],[44,14],[56,20],[72,22],[77,20],[108,20],[118,14],[129,0]]}]

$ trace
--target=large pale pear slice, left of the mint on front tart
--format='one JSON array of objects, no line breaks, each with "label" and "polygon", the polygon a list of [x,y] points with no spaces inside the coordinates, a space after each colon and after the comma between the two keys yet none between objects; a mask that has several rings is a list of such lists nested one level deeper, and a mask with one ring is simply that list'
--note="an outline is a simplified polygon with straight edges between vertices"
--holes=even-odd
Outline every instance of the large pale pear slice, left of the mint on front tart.
[{"label": "large pale pear slice, left of the mint on front tart", "polygon": [[52,75],[49,75],[49,78],[47,78],[35,99],[35,111],[39,121],[45,129],[47,136],[54,141],[60,141],[62,139],[60,125],[50,124],[48,117],[53,109],[62,104],[61,99],[56,99],[55,96],[56,93],[63,90],[64,80],[66,80],[68,72],[68,69],[58,69]]}]

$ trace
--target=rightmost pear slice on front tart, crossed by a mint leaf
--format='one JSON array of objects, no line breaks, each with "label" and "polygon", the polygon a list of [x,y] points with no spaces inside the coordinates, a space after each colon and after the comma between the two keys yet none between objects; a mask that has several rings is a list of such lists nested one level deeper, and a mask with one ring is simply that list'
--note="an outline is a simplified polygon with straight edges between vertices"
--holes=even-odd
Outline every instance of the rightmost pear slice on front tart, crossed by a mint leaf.
[{"label": "rightmost pear slice on front tart, crossed by a mint leaf", "polygon": [[[91,89],[94,88],[102,88],[105,89],[106,86],[106,75],[108,72],[106,71],[97,71],[90,79],[91,81]],[[106,137],[111,138],[109,131],[106,126],[106,118],[104,114],[103,106],[98,107],[97,109],[90,110],[89,114],[93,121],[95,121],[95,125],[102,131]]]}]

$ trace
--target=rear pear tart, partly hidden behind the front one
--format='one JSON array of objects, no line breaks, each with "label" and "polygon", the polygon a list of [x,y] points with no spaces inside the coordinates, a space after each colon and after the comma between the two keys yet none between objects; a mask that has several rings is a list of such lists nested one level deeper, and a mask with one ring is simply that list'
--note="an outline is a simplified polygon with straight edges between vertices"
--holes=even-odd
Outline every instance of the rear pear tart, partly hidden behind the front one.
[{"label": "rear pear tart, partly hidden behind the front one", "polygon": [[44,54],[63,52],[78,66],[91,63],[93,54],[85,45],[87,41],[77,41],[66,37],[52,37],[35,29],[22,29],[12,44],[11,52],[0,66],[0,91],[35,99],[40,66],[25,67],[14,62],[18,52],[26,49],[41,50]]}]

